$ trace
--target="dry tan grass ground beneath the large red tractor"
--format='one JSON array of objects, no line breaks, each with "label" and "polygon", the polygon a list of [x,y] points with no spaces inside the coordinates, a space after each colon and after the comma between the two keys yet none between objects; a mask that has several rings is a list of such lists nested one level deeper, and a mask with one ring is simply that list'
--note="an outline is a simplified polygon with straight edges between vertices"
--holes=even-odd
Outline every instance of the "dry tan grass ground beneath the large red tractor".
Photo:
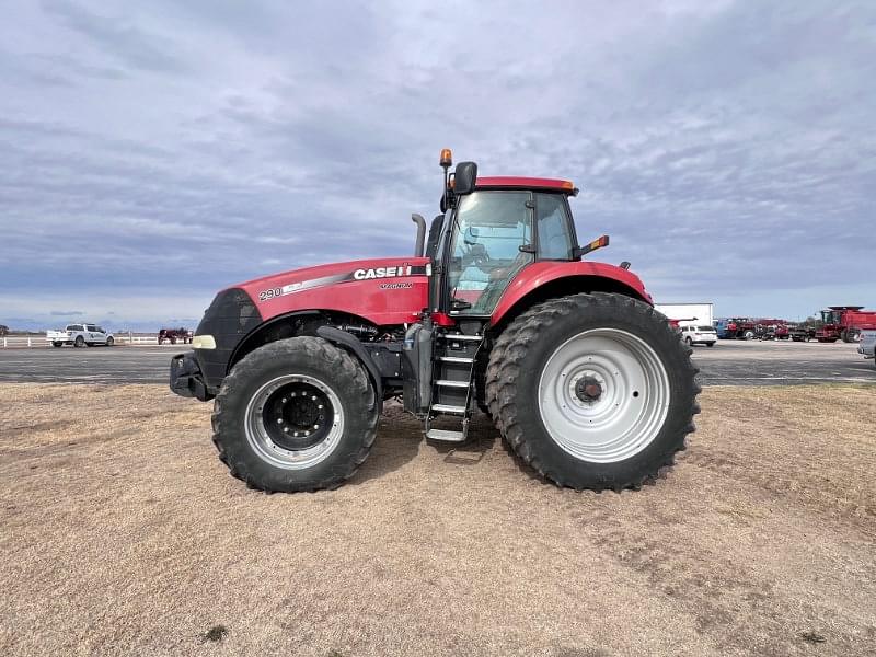
[{"label": "dry tan grass ground beneath the large red tractor", "polygon": [[230,477],[163,387],[0,385],[0,654],[876,654],[876,387],[710,388],[639,493],[397,407],[335,492]]}]

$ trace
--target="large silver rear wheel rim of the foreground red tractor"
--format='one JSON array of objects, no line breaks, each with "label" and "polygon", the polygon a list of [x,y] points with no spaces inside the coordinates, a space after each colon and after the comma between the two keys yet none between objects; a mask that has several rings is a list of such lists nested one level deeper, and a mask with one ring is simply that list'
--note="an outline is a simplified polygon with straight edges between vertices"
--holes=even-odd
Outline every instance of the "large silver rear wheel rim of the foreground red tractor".
[{"label": "large silver rear wheel rim of the foreground red tractor", "polygon": [[557,347],[539,380],[549,435],[584,461],[614,463],[645,449],[669,412],[666,368],[642,338],[618,328],[579,333]]}]

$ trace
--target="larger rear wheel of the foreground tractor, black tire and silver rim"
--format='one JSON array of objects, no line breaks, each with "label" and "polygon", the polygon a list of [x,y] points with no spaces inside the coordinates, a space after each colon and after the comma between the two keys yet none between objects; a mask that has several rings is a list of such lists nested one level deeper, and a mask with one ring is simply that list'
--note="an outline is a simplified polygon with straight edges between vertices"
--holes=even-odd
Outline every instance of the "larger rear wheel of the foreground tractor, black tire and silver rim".
[{"label": "larger rear wheel of the foreground tractor, black tire and silver rim", "polygon": [[650,306],[595,292],[515,320],[491,355],[487,394],[504,437],[552,482],[638,488],[694,430],[691,348]]}]

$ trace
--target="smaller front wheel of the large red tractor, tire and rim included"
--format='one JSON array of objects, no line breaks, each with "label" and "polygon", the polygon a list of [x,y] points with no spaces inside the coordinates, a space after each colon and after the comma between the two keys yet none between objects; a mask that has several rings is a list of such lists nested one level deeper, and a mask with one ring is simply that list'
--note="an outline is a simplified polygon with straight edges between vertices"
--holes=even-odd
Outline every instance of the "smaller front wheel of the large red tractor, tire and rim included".
[{"label": "smaller front wheel of the large red tractor, tire and rim included", "polygon": [[212,440],[250,487],[335,488],[368,457],[377,396],[361,364],[319,337],[292,337],[246,355],[216,397]]}]

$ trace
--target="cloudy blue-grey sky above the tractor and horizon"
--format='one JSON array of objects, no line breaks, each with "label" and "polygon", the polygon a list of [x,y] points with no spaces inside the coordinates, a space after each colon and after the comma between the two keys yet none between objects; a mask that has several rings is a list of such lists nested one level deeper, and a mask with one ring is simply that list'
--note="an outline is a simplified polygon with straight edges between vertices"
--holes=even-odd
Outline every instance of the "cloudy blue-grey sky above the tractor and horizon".
[{"label": "cloudy blue-grey sky above the tractor and horizon", "polygon": [[658,301],[876,306],[876,3],[486,7],[4,3],[0,323],[194,323],[410,253],[442,147],[574,180]]}]

